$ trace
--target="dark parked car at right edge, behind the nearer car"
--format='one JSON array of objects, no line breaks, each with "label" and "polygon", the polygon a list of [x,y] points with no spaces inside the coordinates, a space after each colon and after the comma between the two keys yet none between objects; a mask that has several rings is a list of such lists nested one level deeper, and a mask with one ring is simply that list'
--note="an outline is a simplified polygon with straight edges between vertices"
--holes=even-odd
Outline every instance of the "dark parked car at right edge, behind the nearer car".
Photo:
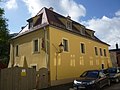
[{"label": "dark parked car at right edge, behind the nearer car", "polygon": [[109,78],[111,81],[119,82],[120,81],[120,67],[108,68]]}]

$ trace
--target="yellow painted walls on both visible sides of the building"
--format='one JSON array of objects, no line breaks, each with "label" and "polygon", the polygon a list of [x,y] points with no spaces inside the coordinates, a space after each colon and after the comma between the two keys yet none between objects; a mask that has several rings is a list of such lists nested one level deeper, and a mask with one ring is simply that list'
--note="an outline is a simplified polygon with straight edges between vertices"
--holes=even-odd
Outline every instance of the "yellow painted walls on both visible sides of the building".
[{"label": "yellow painted walls on both visible sides of the building", "polygon": [[[69,79],[79,77],[80,74],[87,69],[101,69],[101,64],[105,63],[107,68],[107,62],[110,59],[108,46],[91,39],[82,37],[80,35],[73,34],[68,31],[64,31],[59,28],[49,27],[48,33],[48,63],[50,68],[50,80],[56,80],[56,60],[57,60],[57,79]],[[45,51],[41,49],[41,38],[44,37],[44,30],[36,30],[29,34],[20,36],[13,39],[11,43],[10,62],[14,58],[15,65],[22,66],[22,60],[26,57],[26,61],[29,67],[37,65],[37,70],[46,67]],[[33,53],[33,40],[39,39],[40,52]],[[62,52],[56,57],[57,49],[62,39],[67,39],[69,42],[69,52]],[[85,44],[85,54],[80,52],[80,43]],[[14,47],[12,48],[12,45]],[[19,45],[19,55],[15,56],[15,46]],[[49,46],[50,45],[50,46]],[[98,48],[98,56],[95,55],[94,47]],[[107,57],[100,56],[99,48],[106,49]],[[49,50],[50,49],[50,50]],[[14,53],[13,53],[14,50]],[[49,52],[50,51],[50,52]],[[12,56],[14,54],[14,57]],[[57,59],[56,59],[57,58]],[[11,65],[9,63],[9,65]]]}]

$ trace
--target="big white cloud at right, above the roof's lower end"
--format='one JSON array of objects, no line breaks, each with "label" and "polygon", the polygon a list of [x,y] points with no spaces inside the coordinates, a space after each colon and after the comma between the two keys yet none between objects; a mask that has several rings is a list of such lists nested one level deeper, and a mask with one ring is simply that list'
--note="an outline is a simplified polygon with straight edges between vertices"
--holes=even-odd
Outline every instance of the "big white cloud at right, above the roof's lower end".
[{"label": "big white cloud at right, above the roof's lower end", "polygon": [[[115,16],[109,18],[93,18],[82,22],[87,28],[96,31],[96,36],[106,43],[110,44],[110,48],[115,48],[115,44],[120,42],[120,16],[119,11]],[[119,43],[120,44],[120,43]]]}]

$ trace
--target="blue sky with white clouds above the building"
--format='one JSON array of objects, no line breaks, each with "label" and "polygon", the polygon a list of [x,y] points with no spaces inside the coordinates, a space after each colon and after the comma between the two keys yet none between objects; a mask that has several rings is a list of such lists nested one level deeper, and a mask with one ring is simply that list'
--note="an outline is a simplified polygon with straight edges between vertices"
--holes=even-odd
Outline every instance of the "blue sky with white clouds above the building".
[{"label": "blue sky with white clouds above the building", "polygon": [[71,16],[86,28],[95,31],[102,41],[115,48],[120,46],[120,0],[2,0],[0,7],[5,10],[10,33],[18,33],[29,18],[43,7],[53,7],[54,11]]}]

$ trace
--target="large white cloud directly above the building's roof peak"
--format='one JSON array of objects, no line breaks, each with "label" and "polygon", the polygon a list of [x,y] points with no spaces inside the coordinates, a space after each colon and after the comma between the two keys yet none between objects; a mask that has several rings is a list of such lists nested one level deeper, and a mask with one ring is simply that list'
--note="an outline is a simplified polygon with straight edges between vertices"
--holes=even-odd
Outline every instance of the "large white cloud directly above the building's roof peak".
[{"label": "large white cloud directly above the building's roof peak", "polygon": [[74,0],[23,0],[31,16],[34,16],[43,7],[53,7],[58,13],[65,16],[69,15],[72,19],[79,21],[80,17],[85,16],[86,9],[83,5]]}]

